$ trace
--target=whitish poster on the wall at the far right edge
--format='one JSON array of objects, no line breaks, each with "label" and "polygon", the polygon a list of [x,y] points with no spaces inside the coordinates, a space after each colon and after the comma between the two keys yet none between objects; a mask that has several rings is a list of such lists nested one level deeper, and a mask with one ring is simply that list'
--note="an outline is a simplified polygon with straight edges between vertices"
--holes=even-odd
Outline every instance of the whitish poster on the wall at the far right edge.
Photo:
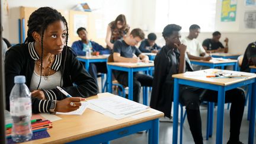
[{"label": "whitish poster on the wall at the far right edge", "polygon": [[256,28],[256,11],[245,11],[244,25],[245,28]]}]

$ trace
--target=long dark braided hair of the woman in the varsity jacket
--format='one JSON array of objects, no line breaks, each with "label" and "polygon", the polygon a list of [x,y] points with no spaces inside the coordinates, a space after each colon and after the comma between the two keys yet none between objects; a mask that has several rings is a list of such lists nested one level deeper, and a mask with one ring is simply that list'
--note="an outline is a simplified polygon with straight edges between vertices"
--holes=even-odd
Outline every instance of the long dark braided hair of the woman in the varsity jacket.
[{"label": "long dark braided hair of the woman in the varsity jacket", "polygon": [[[41,69],[40,69],[40,81],[39,81],[39,85],[41,82],[41,74],[42,74],[42,69],[43,69],[43,37],[44,37],[44,31],[46,30],[46,28],[52,24],[55,23],[56,21],[63,21],[63,23],[66,26],[66,43],[65,43],[65,51],[67,53],[67,49],[68,49],[68,23],[65,19],[65,17],[63,17],[60,12],[58,12],[56,9],[50,8],[50,7],[41,7],[39,9],[37,9],[36,11],[34,11],[29,19],[28,19],[28,31],[27,31],[27,38],[25,39],[24,43],[30,43],[35,41],[34,37],[33,37],[33,32],[36,31],[37,33],[40,34],[41,36],[41,57],[40,57],[40,63],[41,63]],[[64,59],[64,63],[66,62],[66,53],[65,53],[65,59]],[[63,70],[65,69],[65,65],[63,66]],[[62,82],[62,77],[63,77],[63,73],[62,76],[60,78],[60,85]],[[39,85],[37,86],[37,89],[39,89]]]}]

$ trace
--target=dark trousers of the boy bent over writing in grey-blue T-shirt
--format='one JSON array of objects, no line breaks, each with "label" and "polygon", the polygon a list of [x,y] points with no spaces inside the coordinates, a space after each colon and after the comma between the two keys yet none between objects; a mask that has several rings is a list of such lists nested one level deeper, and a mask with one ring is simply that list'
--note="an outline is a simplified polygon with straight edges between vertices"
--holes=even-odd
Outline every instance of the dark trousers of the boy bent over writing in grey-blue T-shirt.
[{"label": "dark trousers of the boy bent over writing in grey-blue T-shirt", "polygon": [[[116,80],[126,87],[128,87],[128,73],[120,72],[115,76]],[[141,73],[133,73],[133,101],[139,103],[140,88],[142,86],[152,87],[153,77]]]}]

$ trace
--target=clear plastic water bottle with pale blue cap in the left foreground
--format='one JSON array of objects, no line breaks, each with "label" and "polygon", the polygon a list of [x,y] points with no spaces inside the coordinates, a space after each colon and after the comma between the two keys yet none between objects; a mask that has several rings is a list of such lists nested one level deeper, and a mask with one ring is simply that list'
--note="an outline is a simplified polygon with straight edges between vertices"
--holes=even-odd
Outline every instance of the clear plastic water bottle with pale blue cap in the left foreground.
[{"label": "clear plastic water bottle with pale blue cap in the left foreground", "polygon": [[25,76],[14,77],[14,87],[10,94],[10,113],[12,123],[12,140],[25,142],[30,140],[33,132],[31,127],[31,93],[25,85]]}]

